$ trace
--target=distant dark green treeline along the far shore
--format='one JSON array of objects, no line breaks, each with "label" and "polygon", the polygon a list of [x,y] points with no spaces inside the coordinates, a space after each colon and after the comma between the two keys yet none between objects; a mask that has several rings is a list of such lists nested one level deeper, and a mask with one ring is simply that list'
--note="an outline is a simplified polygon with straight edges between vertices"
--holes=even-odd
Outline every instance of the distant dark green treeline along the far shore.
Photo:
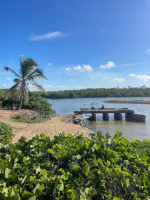
[{"label": "distant dark green treeline along the far shore", "polygon": [[[39,92],[38,92],[39,93]],[[90,98],[90,97],[150,97],[150,88],[99,88],[65,91],[48,91],[46,94],[40,93],[44,98]]]}]

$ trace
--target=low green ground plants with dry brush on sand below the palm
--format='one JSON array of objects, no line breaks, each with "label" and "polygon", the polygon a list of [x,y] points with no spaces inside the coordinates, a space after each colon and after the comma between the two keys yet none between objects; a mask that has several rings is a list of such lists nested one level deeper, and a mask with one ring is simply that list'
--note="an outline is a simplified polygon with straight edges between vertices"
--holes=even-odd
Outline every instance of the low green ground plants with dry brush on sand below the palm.
[{"label": "low green ground plants with dry brush on sand below the palm", "polygon": [[16,115],[16,116],[13,117],[13,120],[15,122],[24,122],[24,123],[30,123],[30,124],[35,124],[35,123],[45,122],[46,121],[46,119],[43,119],[43,118],[28,119],[24,115]]}]

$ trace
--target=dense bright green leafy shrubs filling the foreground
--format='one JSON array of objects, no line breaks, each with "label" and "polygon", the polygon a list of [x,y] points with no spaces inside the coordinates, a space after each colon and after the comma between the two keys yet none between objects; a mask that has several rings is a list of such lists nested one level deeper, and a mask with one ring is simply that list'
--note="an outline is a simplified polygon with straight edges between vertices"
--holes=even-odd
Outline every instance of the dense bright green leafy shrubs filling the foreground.
[{"label": "dense bright green leafy shrubs filling the foreground", "polygon": [[150,140],[43,134],[0,147],[1,199],[150,198]]}]

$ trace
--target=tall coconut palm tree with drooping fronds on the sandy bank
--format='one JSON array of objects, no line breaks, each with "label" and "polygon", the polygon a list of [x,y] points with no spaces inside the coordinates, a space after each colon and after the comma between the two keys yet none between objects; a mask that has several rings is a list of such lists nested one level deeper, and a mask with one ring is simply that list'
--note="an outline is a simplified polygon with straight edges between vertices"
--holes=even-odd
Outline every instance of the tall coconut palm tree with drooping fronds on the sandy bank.
[{"label": "tall coconut palm tree with drooping fronds on the sandy bank", "polygon": [[19,100],[20,100],[20,106],[19,109],[22,106],[22,103],[28,103],[28,86],[31,84],[32,86],[42,90],[45,92],[44,88],[39,85],[35,79],[37,78],[45,78],[47,79],[42,70],[38,67],[38,64],[31,58],[27,58],[25,60],[22,59],[23,56],[19,56],[20,58],[20,70],[19,73],[16,73],[13,69],[9,67],[4,67],[6,71],[10,71],[13,73],[16,78],[14,79],[14,85],[9,89],[9,93],[13,94],[16,90],[19,90]]}]

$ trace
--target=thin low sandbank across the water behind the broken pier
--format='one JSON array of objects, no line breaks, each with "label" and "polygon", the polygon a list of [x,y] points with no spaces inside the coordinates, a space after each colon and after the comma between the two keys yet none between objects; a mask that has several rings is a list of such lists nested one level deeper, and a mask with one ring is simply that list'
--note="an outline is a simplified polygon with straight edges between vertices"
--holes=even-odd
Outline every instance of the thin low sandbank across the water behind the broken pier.
[{"label": "thin low sandbank across the water behind the broken pier", "polygon": [[104,103],[150,104],[150,100],[113,100],[113,101],[104,101]]}]

